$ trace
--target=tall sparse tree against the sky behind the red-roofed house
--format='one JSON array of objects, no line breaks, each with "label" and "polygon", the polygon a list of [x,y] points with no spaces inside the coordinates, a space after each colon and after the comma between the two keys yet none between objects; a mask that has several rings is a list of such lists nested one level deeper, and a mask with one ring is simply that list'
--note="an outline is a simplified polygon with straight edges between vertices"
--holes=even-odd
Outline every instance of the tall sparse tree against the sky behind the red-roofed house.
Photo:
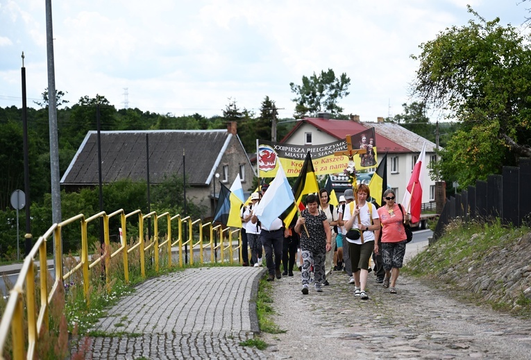
[{"label": "tall sparse tree against the sky behind the red-roofed house", "polygon": [[351,85],[351,79],[345,73],[336,78],[332,69],[321,70],[319,75],[314,72],[310,78],[303,76],[302,85],[289,83],[296,94],[296,98],[292,99],[296,103],[294,117],[302,119],[318,112],[340,115],[343,108],[337,105],[337,101],[349,94],[348,85]]}]

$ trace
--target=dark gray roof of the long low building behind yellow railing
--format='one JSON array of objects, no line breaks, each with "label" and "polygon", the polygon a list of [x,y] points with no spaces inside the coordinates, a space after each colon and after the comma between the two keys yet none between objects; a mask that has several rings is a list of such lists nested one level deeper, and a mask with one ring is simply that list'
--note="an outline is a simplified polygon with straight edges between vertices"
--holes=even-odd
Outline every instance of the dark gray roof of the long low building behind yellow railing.
[{"label": "dark gray roof of the long low building behind yellow railing", "polygon": [[[227,130],[101,131],[102,182],[146,179],[146,134],[149,139],[149,180],[183,172],[185,153],[189,185],[208,185],[214,164],[230,141]],[[205,149],[207,151],[205,151]],[[97,132],[90,131],[62,176],[61,185],[97,185]]]}]

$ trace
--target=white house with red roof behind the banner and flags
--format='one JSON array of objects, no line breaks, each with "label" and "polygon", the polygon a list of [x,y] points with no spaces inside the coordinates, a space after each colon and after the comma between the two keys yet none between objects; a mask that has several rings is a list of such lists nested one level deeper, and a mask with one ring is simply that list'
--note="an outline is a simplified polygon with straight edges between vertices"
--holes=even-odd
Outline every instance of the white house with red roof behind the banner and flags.
[{"label": "white house with red roof behind the banner and flags", "polygon": [[[395,191],[399,202],[405,194],[407,182],[424,142],[426,162],[429,164],[430,161],[435,161],[436,145],[397,123],[386,123],[382,117],[376,123],[371,123],[360,121],[357,115],[351,116],[350,120],[329,119],[328,114],[321,115],[322,117],[297,121],[296,126],[280,142],[296,145],[327,144],[345,139],[346,135],[374,128],[378,158],[387,153],[387,184]],[[424,171],[422,184],[422,202],[435,202],[435,181],[431,180],[429,171]]]}]

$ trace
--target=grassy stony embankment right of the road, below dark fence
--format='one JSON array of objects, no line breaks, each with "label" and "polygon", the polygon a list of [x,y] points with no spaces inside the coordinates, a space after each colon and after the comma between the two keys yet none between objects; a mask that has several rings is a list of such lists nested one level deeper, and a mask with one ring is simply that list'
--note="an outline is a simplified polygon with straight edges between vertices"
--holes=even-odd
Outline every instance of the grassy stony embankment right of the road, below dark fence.
[{"label": "grassy stony embankment right of the road, below dark fence", "polygon": [[499,273],[497,265],[528,265],[515,262],[523,261],[516,253],[531,250],[523,248],[529,237],[530,228],[506,226],[499,219],[486,223],[457,219],[446,226],[441,239],[410,259],[403,272],[443,286],[464,301],[531,318],[531,298],[523,292],[529,284]]}]

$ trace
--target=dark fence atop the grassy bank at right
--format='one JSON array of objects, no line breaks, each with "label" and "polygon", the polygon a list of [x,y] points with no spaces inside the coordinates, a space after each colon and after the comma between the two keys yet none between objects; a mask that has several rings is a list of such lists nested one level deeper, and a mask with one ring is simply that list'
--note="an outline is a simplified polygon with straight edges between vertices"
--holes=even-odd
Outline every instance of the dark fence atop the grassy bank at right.
[{"label": "dark fence atop the grassy bank at right", "polygon": [[505,225],[519,227],[531,217],[531,159],[521,157],[519,166],[503,166],[502,175],[489,175],[477,180],[461,194],[446,199],[444,209],[433,232],[438,239],[444,227],[455,218],[488,221],[500,218]]}]

